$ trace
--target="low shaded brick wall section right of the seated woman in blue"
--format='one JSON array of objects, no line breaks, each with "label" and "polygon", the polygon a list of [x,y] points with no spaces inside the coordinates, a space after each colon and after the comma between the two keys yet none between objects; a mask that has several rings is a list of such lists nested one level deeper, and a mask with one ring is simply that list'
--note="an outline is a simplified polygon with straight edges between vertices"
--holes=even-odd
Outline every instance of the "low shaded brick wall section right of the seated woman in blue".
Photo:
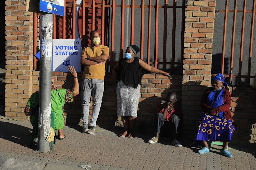
[{"label": "low shaded brick wall section right of the seated woman in blue", "polygon": [[231,114],[236,130],[232,142],[246,145],[256,142],[256,90],[252,88],[230,87]]}]

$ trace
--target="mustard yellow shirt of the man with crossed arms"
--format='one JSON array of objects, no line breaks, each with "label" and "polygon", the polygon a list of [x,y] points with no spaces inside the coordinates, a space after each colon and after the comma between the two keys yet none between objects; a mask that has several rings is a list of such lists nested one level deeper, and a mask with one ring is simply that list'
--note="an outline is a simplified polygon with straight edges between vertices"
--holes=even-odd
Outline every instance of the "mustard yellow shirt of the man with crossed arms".
[{"label": "mustard yellow shirt of the man with crossed arms", "polygon": [[[107,54],[109,56],[109,48],[107,46],[100,45],[99,47],[85,47],[82,51],[82,57],[97,57]],[[83,72],[83,79],[100,79],[104,80],[105,77],[105,63],[95,64],[91,66],[85,66]]]}]

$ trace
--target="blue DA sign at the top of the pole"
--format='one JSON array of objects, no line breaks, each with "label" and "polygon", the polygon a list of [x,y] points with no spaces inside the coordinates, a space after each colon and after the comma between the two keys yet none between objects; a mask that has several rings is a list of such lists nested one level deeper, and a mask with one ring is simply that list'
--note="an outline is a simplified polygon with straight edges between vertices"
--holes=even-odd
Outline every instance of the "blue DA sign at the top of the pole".
[{"label": "blue DA sign at the top of the pole", "polygon": [[40,0],[39,10],[64,16],[64,0]]}]

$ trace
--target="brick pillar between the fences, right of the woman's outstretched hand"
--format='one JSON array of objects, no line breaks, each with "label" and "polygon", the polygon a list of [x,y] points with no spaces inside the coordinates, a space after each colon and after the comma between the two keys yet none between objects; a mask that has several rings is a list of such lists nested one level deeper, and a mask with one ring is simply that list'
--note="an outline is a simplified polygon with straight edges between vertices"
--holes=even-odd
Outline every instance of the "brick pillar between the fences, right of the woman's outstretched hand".
[{"label": "brick pillar between the fences, right of the woman's outstretched hand", "polygon": [[211,85],[215,0],[188,0],[182,80],[183,136],[193,139],[201,113],[200,99]]}]

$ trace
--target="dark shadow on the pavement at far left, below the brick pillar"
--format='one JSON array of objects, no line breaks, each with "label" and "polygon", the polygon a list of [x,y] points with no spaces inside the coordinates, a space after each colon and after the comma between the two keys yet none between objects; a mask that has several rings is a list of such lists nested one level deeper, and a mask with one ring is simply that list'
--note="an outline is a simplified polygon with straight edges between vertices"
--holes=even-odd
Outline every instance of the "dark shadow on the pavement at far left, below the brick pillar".
[{"label": "dark shadow on the pavement at far left, below the brick pillar", "polygon": [[29,148],[31,128],[9,122],[0,123],[0,138]]}]

